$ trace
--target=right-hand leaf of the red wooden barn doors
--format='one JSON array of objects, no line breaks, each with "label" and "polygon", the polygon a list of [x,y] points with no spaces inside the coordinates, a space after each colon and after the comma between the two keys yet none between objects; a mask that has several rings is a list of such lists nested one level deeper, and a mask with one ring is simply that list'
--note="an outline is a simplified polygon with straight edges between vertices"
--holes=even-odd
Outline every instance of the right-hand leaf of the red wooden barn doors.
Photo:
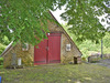
[{"label": "right-hand leaf of the red wooden barn doors", "polygon": [[61,33],[51,33],[48,37],[48,63],[61,62]]}]

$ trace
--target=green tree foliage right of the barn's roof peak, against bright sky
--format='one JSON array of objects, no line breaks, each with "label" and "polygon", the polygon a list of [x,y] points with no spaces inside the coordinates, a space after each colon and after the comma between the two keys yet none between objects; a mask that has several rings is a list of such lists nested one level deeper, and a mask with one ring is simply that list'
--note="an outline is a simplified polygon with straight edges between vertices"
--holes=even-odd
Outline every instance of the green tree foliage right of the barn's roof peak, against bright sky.
[{"label": "green tree foliage right of the barn's roof peak, against bright sky", "polygon": [[[109,2],[109,3],[108,3]],[[105,29],[98,17],[110,13],[109,0],[68,0],[62,18],[69,24],[69,30],[78,40],[96,40],[105,37]]]}]

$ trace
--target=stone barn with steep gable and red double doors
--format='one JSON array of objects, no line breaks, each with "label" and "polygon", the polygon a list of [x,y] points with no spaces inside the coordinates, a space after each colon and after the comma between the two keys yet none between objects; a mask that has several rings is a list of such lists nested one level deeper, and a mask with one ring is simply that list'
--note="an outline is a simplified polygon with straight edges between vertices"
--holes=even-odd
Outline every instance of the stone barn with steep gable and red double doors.
[{"label": "stone barn with steep gable and red double doors", "polygon": [[[56,21],[52,13],[51,15]],[[63,27],[48,21],[48,39],[43,40],[38,48],[26,43],[26,49],[23,49],[21,43],[14,46],[10,43],[1,54],[4,58],[4,68],[18,64],[20,59],[23,65],[38,65],[74,62],[74,56],[81,56],[81,52]]]}]

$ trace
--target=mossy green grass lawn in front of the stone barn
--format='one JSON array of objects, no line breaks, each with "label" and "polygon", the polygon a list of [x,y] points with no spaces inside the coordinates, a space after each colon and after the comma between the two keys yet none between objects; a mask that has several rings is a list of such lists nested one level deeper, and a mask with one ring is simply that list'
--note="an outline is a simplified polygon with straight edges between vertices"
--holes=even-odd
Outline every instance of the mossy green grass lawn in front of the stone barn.
[{"label": "mossy green grass lawn in front of the stone barn", "polygon": [[95,64],[55,64],[0,69],[2,83],[110,83],[110,69]]}]

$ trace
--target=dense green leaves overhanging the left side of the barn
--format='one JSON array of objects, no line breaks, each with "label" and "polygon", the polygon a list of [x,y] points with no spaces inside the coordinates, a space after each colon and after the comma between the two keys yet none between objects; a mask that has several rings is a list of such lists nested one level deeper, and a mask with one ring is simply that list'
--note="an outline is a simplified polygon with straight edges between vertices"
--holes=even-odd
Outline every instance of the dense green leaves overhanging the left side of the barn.
[{"label": "dense green leaves overhanging the left side of the barn", "polygon": [[[0,37],[10,41],[37,44],[48,32],[48,10],[55,1],[48,0],[1,0]],[[11,30],[11,32],[10,32]]]}]

